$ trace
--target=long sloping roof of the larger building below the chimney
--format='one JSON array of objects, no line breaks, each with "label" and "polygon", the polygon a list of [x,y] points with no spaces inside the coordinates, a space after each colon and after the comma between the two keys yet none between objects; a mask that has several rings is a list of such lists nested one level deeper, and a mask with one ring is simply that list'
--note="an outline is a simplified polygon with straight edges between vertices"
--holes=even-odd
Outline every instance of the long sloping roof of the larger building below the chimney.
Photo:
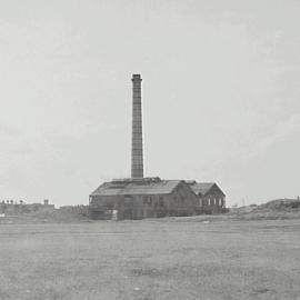
[{"label": "long sloping roof of the larger building below the chimney", "polygon": [[116,180],[97,188],[91,196],[126,196],[126,194],[168,194],[171,193],[181,180]]}]

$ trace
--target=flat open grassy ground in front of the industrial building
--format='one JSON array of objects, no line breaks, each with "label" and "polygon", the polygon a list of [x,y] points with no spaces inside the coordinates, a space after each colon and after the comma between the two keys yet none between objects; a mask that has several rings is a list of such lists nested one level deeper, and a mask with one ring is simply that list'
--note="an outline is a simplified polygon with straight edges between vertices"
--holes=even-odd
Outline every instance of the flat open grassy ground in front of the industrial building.
[{"label": "flat open grassy ground in front of the industrial building", "polygon": [[0,224],[0,299],[300,299],[300,220]]}]

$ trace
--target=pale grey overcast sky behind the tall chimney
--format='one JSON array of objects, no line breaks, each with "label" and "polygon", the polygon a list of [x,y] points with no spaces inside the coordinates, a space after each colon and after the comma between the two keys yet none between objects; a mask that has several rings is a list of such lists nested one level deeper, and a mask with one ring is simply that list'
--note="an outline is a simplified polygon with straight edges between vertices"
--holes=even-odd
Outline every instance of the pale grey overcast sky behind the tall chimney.
[{"label": "pale grey overcast sky behind the tall chimney", "polygon": [[300,194],[300,1],[0,0],[0,200],[87,204],[130,177],[216,181],[228,206]]}]

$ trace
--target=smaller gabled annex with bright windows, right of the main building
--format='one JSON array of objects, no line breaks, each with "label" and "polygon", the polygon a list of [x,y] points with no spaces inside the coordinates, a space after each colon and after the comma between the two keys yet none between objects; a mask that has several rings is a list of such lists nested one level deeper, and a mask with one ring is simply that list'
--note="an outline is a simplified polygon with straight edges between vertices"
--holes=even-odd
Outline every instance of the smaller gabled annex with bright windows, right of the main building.
[{"label": "smaller gabled annex with bright windows, right of the main building", "polygon": [[222,212],[226,208],[226,194],[216,182],[187,181],[198,196],[198,212]]}]

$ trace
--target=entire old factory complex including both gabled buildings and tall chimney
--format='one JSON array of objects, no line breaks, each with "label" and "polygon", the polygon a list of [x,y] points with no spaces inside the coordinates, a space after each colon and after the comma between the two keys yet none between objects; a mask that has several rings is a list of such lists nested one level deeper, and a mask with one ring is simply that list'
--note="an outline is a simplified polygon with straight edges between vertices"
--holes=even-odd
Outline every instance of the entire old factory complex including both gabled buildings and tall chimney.
[{"label": "entire old factory complex including both gabled buildings and tall chimney", "polygon": [[143,177],[141,81],[140,74],[132,76],[131,178],[98,187],[89,197],[91,218],[121,220],[221,211],[224,193],[216,183]]}]

